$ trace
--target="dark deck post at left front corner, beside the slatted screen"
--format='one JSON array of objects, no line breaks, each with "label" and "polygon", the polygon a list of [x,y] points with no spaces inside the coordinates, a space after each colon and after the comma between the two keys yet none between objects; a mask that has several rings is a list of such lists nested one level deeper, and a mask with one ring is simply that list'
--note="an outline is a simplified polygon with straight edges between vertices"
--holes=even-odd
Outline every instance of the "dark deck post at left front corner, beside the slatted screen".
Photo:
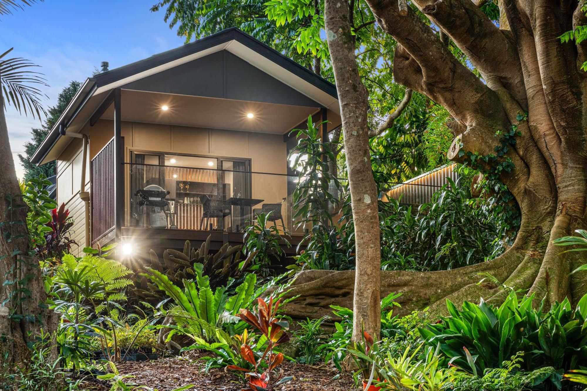
[{"label": "dark deck post at left front corner, beside the slatted screen", "polygon": [[114,89],[114,224],[116,241],[122,237],[124,221],[124,141],[120,111],[120,89]]}]

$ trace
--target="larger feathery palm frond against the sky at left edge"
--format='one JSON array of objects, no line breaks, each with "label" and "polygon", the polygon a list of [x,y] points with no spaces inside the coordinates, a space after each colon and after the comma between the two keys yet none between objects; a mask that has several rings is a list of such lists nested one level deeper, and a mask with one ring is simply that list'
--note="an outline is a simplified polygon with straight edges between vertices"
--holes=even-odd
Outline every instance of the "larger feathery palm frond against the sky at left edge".
[{"label": "larger feathery palm frond against the sky at left edge", "polygon": [[[6,1],[12,2],[0,0],[0,14]],[[46,114],[41,99],[49,97],[39,87],[49,85],[42,73],[29,70],[38,65],[20,57],[7,58],[12,49],[0,55],[0,88],[5,102],[14,106],[19,113],[24,112],[25,116],[30,113],[33,118],[36,116],[41,119],[41,113]]]}]

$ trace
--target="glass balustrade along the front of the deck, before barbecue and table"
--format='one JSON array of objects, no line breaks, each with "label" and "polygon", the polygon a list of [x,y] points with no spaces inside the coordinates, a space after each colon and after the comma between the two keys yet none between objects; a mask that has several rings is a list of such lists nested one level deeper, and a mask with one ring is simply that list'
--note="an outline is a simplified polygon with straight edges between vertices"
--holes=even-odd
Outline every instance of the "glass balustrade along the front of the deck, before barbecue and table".
[{"label": "glass balustrade along the front of the deck, before barbecue and table", "polygon": [[297,176],[127,163],[126,226],[166,230],[242,232],[258,213],[279,231],[296,228],[292,194]]}]

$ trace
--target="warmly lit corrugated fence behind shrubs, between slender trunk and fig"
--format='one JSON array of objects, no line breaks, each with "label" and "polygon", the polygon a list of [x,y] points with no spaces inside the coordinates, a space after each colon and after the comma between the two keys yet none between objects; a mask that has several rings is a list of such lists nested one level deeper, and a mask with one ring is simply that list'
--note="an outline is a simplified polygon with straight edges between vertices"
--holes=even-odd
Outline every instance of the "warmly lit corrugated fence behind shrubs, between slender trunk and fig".
[{"label": "warmly lit corrugated fence behind shrubs, between slender trunk and fig", "polygon": [[429,203],[432,194],[436,193],[444,184],[448,183],[446,180],[447,177],[455,182],[457,181],[458,174],[455,168],[456,165],[454,163],[447,164],[446,166],[421,174],[416,178],[407,180],[403,184],[393,186],[387,191],[387,197],[394,198],[395,200],[399,200],[402,197],[402,204]]}]

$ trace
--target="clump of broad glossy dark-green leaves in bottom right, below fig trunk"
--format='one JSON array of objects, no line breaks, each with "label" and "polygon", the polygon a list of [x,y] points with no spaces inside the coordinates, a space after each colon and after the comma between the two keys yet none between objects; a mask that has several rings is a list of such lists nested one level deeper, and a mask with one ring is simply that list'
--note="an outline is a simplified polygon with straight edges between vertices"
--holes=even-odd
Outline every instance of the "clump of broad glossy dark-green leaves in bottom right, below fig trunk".
[{"label": "clump of broad glossy dark-green leaves in bottom right, below fig trunk", "polygon": [[420,328],[420,333],[428,345],[439,344],[446,362],[473,375],[503,368],[505,359],[522,352],[522,370],[552,366],[556,372],[549,379],[560,388],[563,373],[587,360],[587,295],[574,311],[565,299],[546,314],[544,302],[535,309],[533,299],[518,299],[511,292],[499,307],[465,301],[462,310],[447,301],[451,316]]}]

